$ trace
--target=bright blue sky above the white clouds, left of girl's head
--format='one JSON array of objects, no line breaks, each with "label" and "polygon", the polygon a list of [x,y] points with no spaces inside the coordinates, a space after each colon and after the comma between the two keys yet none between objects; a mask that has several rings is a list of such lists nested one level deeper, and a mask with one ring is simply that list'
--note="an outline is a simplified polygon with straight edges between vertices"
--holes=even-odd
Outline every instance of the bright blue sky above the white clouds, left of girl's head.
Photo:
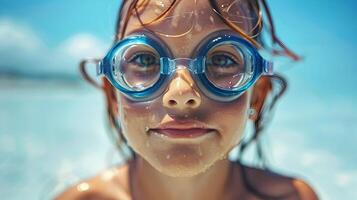
[{"label": "bright blue sky above the white clouds, left of girl's head", "polygon": [[25,23],[50,47],[75,33],[88,32],[110,40],[120,1],[2,0],[0,15]]}]

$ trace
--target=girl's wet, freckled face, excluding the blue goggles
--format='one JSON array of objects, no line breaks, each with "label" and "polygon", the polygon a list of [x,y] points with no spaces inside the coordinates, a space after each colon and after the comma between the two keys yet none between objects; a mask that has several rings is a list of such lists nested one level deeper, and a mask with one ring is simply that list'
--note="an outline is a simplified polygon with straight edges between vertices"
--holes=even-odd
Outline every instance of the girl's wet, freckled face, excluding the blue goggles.
[{"label": "girl's wet, freckled face, excluding the blue goggles", "polygon": [[[190,58],[207,35],[230,30],[214,13],[208,0],[198,0],[196,6],[193,6],[193,2],[179,1],[170,10],[168,16],[175,16],[170,19],[171,26],[168,26],[167,20],[163,20],[145,28],[140,26],[137,16],[132,15],[124,37],[150,31],[154,37],[166,43],[174,57]],[[141,16],[150,17],[150,12],[156,12],[150,9],[154,7],[147,6],[141,11]],[[194,10],[195,13],[189,21],[182,15],[188,10]],[[193,25],[187,33],[182,30],[185,29],[184,25],[175,26],[185,23]],[[242,21],[241,28],[249,27],[249,23]],[[185,34],[175,37],[162,34],[175,32]],[[214,101],[200,91],[188,69],[182,68],[176,71],[165,92],[152,101],[133,102],[117,92],[119,120],[129,145],[154,168],[169,176],[193,176],[225,158],[239,143],[248,119],[251,94],[252,91],[248,90],[228,103]],[[166,129],[165,132],[161,129],[160,132],[158,127],[176,130],[170,132]],[[187,136],[190,130],[186,130],[186,137],[175,137],[187,128],[191,129],[192,137]]]}]

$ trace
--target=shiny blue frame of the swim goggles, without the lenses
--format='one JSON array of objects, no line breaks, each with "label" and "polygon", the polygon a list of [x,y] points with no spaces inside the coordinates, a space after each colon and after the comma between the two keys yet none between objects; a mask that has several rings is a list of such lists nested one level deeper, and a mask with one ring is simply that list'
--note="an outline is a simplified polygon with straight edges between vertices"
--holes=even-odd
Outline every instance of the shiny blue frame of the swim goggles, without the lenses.
[{"label": "shiny blue frame of the swim goggles, without the lenses", "polygon": [[[216,87],[211,83],[205,75],[205,56],[209,50],[219,44],[237,44],[240,47],[244,47],[246,53],[250,55],[249,63],[254,68],[253,75],[249,81],[241,87],[222,89]],[[114,58],[118,51],[126,48],[130,45],[143,44],[152,47],[160,55],[160,77],[152,86],[142,91],[131,90],[128,86],[123,85],[116,80],[114,70]],[[107,55],[100,61],[97,74],[104,75],[110,83],[117,88],[124,95],[129,97],[133,101],[148,101],[158,97],[165,90],[171,77],[177,70],[177,63],[184,64],[190,71],[191,76],[196,81],[200,90],[202,90],[206,96],[217,101],[228,102],[238,98],[249,87],[251,87],[261,75],[273,75],[273,63],[265,60],[258,52],[258,50],[250,44],[247,40],[240,36],[228,33],[216,33],[214,37],[208,37],[208,39],[199,45],[197,48],[197,54],[195,59],[191,58],[171,58],[168,48],[156,39],[153,39],[145,34],[134,35],[124,38],[116,43],[107,53]]]}]

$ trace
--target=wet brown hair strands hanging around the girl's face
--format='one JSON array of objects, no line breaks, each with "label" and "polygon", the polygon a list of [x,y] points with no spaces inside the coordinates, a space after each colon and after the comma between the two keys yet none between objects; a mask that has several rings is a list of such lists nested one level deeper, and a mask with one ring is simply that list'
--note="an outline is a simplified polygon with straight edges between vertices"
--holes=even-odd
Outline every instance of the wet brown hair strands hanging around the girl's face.
[{"label": "wet brown hair strands hanging around the girl's face", "polygon": [[[124,1],[120,7],[119,7],[119,12],[118,12],[118,18],[117,18],[117,25],[116,25],[116,38],[114,42],[117,42],[121,40],[124,37],[124,33],[126,30],[126,27],[128,25],[129,18],[133,12],[138,12],[137,9],[140,6],[143,6],[148,2],[148,0],[142,0],[139,3],[139,0],[132,0],[132,1]],[[159,20],[163,16],[165,16],[166,13],[169,12],[170,9],[172,9],[175,4],[177,3],[177,0],[173,0],[171,5],[168,7],[168,9],[164,10],[157,18],[152,20],[149,23],[152,23],[156,20]],[[256,9],[257,12],[259,12],[259,17],[260,19],[257,20],[257,28],[254,30],[254,37],[251,35],[245,33],[242,31],[238,26],[227,20],[224,15],[222,15],[221,10],[219,9],[219,5],[217,5],[217,2],[215,0],[209,0],[212,9],[214,12],[220,17],[220,19],[226,23],[230,28],[233,30],[237,31],[240,35],[242,35],[245,39],[250,41],[256,46],[260,46],[262,48],[270,49],[273,55],[280,55],[280,56],[286,56],[289,57],[290,59],[294,61],[299,60],[299,56],[297,56],[295,53],[293,53],[291,50],[289,50],[283,42],[276,36],[275,29],[274,29],[274,24],[272,20],[272,16],[270,14],[270,10],[268,5],[266,4],[265,0],[248,0],[250,8]],[[126,5],[130,3],[129,5]],[[128,6],[126,12],[123,10],[125,6]],[[261,11],[264,11],[266,18],[263,20],[263,17],[261,15]],[[147,24],[143,24],[143,26]],[[270,47],[266,41],[261,36],[261,31],[263,29],[267,29],[270,35],[270,43],[273,44],[273,47]],[[83,63],[82,63],[83,64]],[[83,68],[82,68],[83,69]],[[83,73],[85,74],[85,73]],[[90,80],[89,77],[85,77],[86,79]],[[256,153],[258,156],[258,160],[261,162],[261,168],[264,170],[274,173],[271,171],[266,162],[266,157],[264,155],[264,152],[262,150],[262,145],[259,140],[261,133],[265,130],[265,127],[267,125],[267,122],[269,122],[269,118],[271,118],[272,115],[272,110],[274,109],[276,102],[280,99],[280,97],[284,94],[286,87],[287,87],[287,81],[285,78],[279,74],[275,74],[272,76],[266,76],[266,77],[261,77],[264,79],[265,84],[267,84],[266,90],[269,91],[268,95],[265,96],[263,106],[261,109],[257,112],[257,118],[254,120],[254,126],[253,126],[253,134],[250,138],[245,139],[244,141],[241,141],[239,144],[239,153],[237,156],[237,159],[234,160],[233,162],[236,164],[240,164],[242,161],[243,154],[247,147],[253,143],[256,144]],[[90,80],[91,81],[91,80]],[[107,113],[108,113],[108,119],[110,126],[112,127],[110,129],[110,136],[113,137],[113,141],[115,141],[115,145],[118,148],[121,156],[123,156],[126,160],[129,159],[135,159],[135,153],[133,150],[127,145],[126,140],[121,133],[121,127],[116,119],[118,109],[117,105],[117,98],[115,95],[115,89],[113,86],[110,84],[108,80],[103,78],[103,86],[102,86],[106,96],[107,96]],[[243,184],[246,187],[246,189],[253,194],[257,195],[260,198],[263,198],[265,200],[268,199],[286,199],[288,196],[292,195],[292,193],[286,193],[282,194],[279,196],[272,196],[270,194],[266,194],[261,192],[259,189],[253,186],[253,184],[250,182],[248,173],[244,167],[240,167],[241,174],[242,174],[242,179],[243,179]]]}]

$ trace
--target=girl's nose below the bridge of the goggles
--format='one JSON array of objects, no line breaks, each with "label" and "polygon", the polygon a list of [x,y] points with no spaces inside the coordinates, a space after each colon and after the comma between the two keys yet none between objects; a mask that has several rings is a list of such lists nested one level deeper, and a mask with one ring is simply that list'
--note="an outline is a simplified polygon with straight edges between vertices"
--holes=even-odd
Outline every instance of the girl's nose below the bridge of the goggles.
[{"label": "girl's nose below the bridge of the goggles", "polygon": [[164,107],[182,111],[199,107],[201,101],[201,95],[194,89],[194,81],[189,71],[177,70],[163,96]]}]

